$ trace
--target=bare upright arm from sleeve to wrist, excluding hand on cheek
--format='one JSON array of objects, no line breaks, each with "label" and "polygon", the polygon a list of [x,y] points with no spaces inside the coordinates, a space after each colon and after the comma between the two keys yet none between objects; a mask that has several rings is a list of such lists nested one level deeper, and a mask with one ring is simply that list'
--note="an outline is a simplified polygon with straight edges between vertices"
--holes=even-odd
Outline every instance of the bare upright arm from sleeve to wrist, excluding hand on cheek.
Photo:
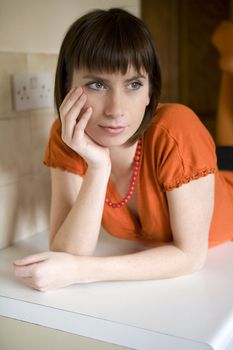
[{"label": "bare upright arm from sleeve to wrist, excluding hand on cheek", "polygon": [[92,255],[99,237],[109,169],[79,176],[52,169],[50,249]]}]

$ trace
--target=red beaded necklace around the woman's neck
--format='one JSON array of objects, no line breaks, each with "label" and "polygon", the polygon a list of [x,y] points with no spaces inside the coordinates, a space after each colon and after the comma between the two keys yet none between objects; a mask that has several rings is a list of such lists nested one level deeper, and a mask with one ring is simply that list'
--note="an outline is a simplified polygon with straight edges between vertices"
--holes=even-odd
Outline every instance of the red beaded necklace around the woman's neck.
[{"label": "red beaded necklace around the woman's neck", "polygon": [[142,140],[140,139],[137,144],[137,149],[135,152],[134,156],[134,165],[133,165],[133,174],[131,177],[130,185],[129,185],[129,190],[126,194],[126,196],[118,203],[113,203],[110,201],[109,198],[105,199],[105,203],[111,207],[111,208],[121,208],[123,207],[132,197],[134,189],[135,189],[135,184],[137,180],[137,175],[138,175],[138,170],[139,170],[139,164],[140,164],[140,159],[141,159],[141,153],[142,153]]}]

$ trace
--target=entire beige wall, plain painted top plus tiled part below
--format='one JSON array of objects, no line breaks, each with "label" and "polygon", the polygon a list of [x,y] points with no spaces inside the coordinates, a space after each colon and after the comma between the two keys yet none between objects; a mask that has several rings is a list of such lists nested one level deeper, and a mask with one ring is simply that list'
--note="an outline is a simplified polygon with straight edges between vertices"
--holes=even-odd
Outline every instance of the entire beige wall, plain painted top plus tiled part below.
[{"label": "entire beige wall, plain painted top plus tiled part below", "polygon": [[[84,0],[0,0],[0,248],[48,228],[50,179],[42,158],[53,109],[15,112],[11,75],[52,72],[67,27],[96,7]],[[140,14],[139,0],[98,1]]]}]

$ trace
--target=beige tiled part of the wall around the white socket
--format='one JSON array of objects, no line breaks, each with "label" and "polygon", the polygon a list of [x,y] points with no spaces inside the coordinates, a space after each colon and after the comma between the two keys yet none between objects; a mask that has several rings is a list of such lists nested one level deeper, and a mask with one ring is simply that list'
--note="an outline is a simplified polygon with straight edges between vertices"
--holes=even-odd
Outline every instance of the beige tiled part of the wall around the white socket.
[{"label": "beige tiled part of the wall around the white socket", "polygon": [[50,177],[42,159],[55,112],[15,112],[11,74],[54,74],[56,61],[56,54],[0,52],[0,248],[48,228]]}]

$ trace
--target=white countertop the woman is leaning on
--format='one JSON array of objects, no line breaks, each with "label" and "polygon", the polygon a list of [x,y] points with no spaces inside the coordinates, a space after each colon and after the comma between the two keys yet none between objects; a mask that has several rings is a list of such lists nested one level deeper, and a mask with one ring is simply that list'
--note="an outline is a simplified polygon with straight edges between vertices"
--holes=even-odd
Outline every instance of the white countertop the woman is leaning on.
[{"label": "white countertop the woman is leaning on", "polygon": [[[96,255],[140,246],[101,234]],[[40,293],[15,279],[12,261],[47,250],[47,234],[0,251],[0,315],[130,349],[233,349],[233,242],[209,250],[193,275],[73,285]]]}]

